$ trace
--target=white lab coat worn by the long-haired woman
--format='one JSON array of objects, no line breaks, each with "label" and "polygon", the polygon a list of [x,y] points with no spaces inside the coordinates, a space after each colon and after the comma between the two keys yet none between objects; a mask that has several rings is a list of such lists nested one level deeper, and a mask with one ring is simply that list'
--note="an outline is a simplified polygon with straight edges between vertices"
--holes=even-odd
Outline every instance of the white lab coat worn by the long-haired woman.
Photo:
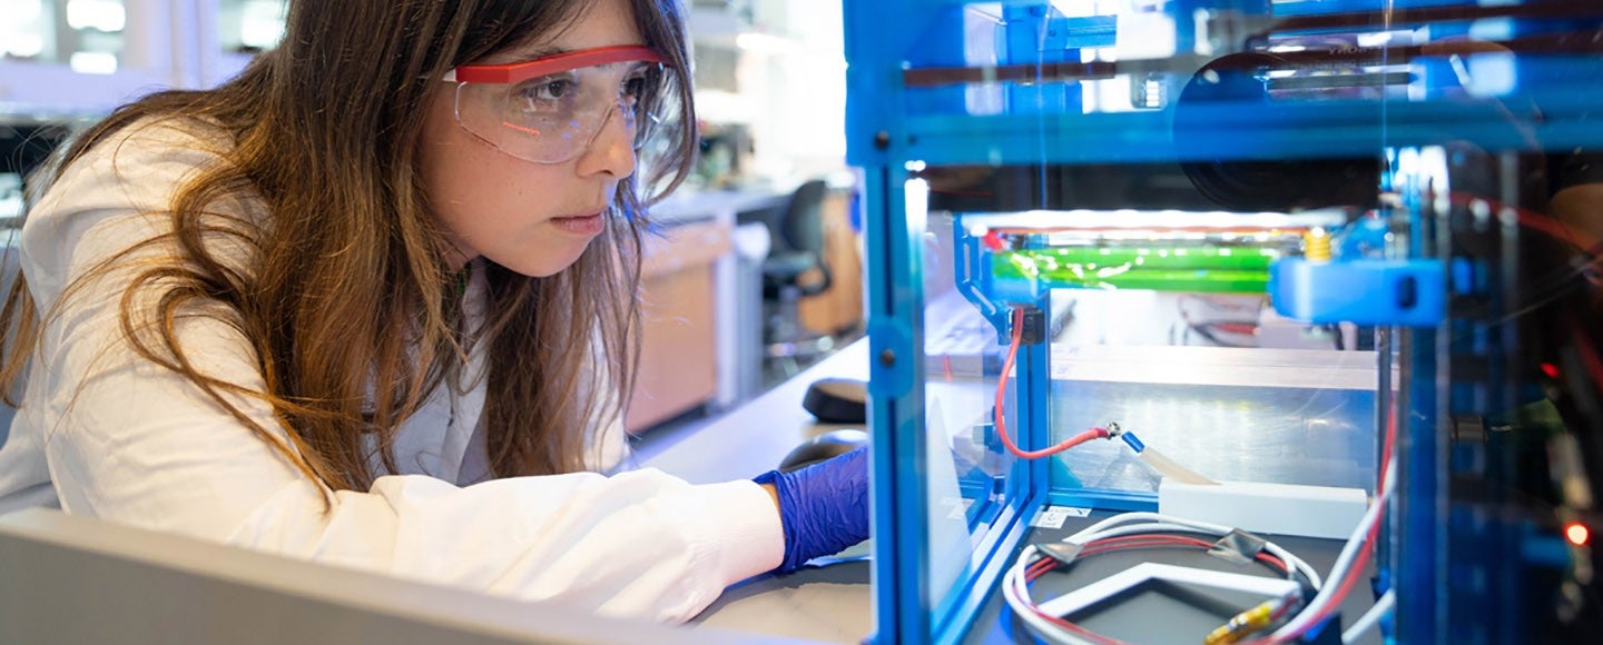
[{"label": "white lab coat worn by the long-haired woman", "polygon": [[[141,213],[165,210],[184,176],[218,162],[215,147],[207,150],[215,138],[164,125],[130,130],[74,163],[29,214],[22,270],[40,310],[51,310],[63,288],[99,261],[168,230],[164,218]],[[474,274],[470,320],[481,314],[471,294],[483,274]],[[691,618],[728,584],[781,562],[779,515],[752,482],[689,485],[644,469],[470,485],[484,474],[484,445],[474,440],[484,379],[471,379],[466,392],[441,387],[399,431],[401,472],[378,477],[369,491],[335,493],[324,512],[316,482],[189,381],[128,349],[117,318],[125,280],[91,283],[45,328],[0,447],[0,512],[59,506],[297,559],[660,621]],[[237,330],[210,317],[183,318],[178,330],[202,371],[263,387]],[[466,371],[481,367],[474,357]],[[234,403],[276,429],[264,403]],[[592,434],[592,467],[619,459],[620,435],[620,424]]]}]

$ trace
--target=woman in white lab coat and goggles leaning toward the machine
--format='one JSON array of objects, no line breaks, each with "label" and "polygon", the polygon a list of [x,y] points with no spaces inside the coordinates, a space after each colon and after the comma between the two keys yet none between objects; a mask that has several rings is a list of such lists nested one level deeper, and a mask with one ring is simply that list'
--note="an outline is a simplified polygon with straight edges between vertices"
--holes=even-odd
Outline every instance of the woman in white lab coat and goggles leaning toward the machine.
[{"label": "woman in white lab coat and goggles leaning toward the machine", "polygon": [[664,621],[866,538],[861,451],[585,472],[688,64],[673,0],[292,2],[237,80],[119,110],[22,229],[0,512]]}]

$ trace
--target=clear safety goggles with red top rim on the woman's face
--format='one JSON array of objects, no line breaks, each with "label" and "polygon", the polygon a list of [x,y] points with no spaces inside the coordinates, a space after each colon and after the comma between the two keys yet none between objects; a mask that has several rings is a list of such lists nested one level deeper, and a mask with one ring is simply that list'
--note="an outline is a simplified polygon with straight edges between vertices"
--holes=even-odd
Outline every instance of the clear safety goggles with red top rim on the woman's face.
[{"label": "clear safety goggles with red top rim on the woman's face", "polygon": [[502,66],[462,66],[457,123],[513,157],[563,163],[583,154],[614,115],[640,150],[676,75],[648,46],[601,46]]}]

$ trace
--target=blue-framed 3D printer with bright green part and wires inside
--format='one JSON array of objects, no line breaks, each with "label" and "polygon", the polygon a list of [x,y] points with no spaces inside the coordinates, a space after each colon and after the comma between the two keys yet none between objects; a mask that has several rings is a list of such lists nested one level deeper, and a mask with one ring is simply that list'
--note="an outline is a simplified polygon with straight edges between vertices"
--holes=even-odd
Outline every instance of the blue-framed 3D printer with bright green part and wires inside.
[{"label": "blue-framed 3D printer with bright green part and wires inside", "polygon": [[1603,634],[1603,3],[846,0],[845,27],[877,642],[987,611],[1140,640],[1085,616],[1194,571],[1047,581],[1193,543],[1284,573],[1186,583],[1265,599],[1196,640]]}]

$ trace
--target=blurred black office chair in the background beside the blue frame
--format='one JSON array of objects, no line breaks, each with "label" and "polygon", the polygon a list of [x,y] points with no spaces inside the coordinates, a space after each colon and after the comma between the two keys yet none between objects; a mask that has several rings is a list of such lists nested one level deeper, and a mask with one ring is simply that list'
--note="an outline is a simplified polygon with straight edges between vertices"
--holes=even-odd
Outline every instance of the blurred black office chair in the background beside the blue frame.
[{"label": "blurred black office chair in the background beside the blue frame", "polygon": [[802,298],[829,290],[834,277],[824,264],[822,179],[808,181],[790,194],[776,219],[768,222],[773,246],[763,259],[763,301],[771,304],[766,352],[795,375],[800,359],[811,359],[835,347],[834,336],[802,328],[797,304]]}]

